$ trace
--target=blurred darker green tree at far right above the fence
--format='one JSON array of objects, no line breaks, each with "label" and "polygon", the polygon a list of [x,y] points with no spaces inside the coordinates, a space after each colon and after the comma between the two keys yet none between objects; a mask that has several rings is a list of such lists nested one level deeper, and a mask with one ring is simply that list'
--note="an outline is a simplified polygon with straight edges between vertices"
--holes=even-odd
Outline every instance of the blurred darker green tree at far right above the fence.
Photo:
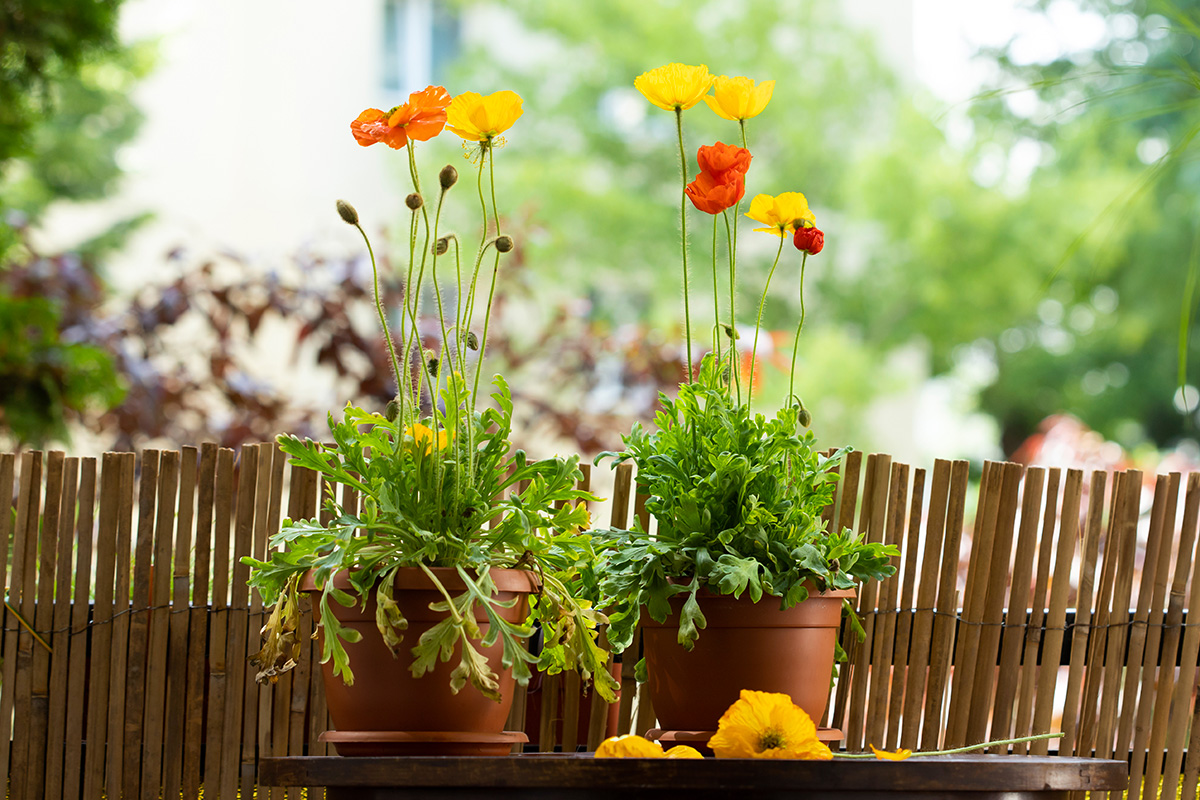
[{"label": "blurred darker green tree at far right above the fence", "polygon": [[[1052,14],[1054,5],[1036,8]],[[978,138],[1043,154],[1028,193],[1073,190],[1060,207],[1076,205],[1068,229],[1079,236],[1049,251],[1057,263],[1043,273],[1039,313],[1002,335],[983,402],[1009,440],[1078,408],[1126,446],[1163,446],[1195,437],[1200,2],[1078,5],[1105,20],[1096,49],[1030,64],[1000,48],[988,54],[997,91],[972,109]],[[1030,86],[1032,97],[1013,102],[1001,83]],[[1098,180],[1105,205],[1081,222],[1072,197]]]}]

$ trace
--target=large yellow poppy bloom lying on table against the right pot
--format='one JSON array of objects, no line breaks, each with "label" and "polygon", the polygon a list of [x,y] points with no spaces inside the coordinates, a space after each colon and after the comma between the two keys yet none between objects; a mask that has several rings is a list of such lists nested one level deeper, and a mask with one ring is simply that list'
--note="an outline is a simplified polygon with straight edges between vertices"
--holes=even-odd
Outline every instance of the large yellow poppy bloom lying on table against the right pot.
[{"label": "large yellow poppy bloom lying on table against the right pot", "polygon": [[742,690],[716,726],[708,746],[718,758],[829,760],[817,727],[787,694]]}]

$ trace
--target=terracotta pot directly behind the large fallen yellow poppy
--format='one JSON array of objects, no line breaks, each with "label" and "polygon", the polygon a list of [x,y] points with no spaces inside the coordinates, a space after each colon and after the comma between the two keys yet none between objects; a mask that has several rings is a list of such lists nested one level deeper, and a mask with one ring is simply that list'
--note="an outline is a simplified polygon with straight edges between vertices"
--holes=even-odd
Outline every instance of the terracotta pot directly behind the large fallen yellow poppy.
[{"label": "terracotta pot directly behind the large fallen yellow poppy", "polygon": [[655,622],[642,609],[647,688],[665,730],[715,730],[743,688],[782,692],[820,724],[829,702],[829,676],[841,626],[841,601],[853,590],[809,595],[780,610],[779,597],[757,603],[701,591],[696,600],[708,626],[696,646],[678,642],[679,609]]}]

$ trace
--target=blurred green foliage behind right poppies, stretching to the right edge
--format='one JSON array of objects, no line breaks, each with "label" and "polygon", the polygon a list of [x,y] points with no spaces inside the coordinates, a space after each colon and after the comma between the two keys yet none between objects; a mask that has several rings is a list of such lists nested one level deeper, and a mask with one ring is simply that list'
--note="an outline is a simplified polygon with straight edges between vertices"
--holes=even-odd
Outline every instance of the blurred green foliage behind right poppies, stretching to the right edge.
[{"label": "blurred green foliage behind right poppies, stretching to the right edge", "polygon": [[[866,32],[836,22],[832,2],[503,5],[533,31],[532,44],[499,68],[469,53],[456,78],[526,97],[511,134],[520,146],[499,157],[547,296],[582,283],[593,318],[612,326],[650,319],[677,335],[673,119],[632,80],[668,61],[774,78],[770,106],[749,124],[748,198],[802,191],[828,236],[809,264],[798,366],[823,441],[870,445],[866,405],[923,378],[887,366],[913,345],[932,375],[986,365],[971,387],[1000,422],[1007,452],[1058,411],[1129,446],[1192,433],[1172,397],[1200,169],[1182,150],[1147,167],[1139,148],[1145,156],[1147,138],[1186,146],[1198,132],[1200,49],[1188,28],[1196,0],[1159,17],[1138,1],[1080,0],[1108,19],[1102,50],[1045,65],[986,53],[1000,67],[995,88],[1006,89],[953,109],[913,96]],[[1168,22],[1164,35],[1157,29]],[[1145,66],[1120,66],[1139,44]],[[1014,112],[1013,86],[1039,95],[1037,115]],[[736,126],[703,106],[684,125],[691,154],[718,139],[737,143]],[[1018,155],[1028,161],[1031,149],[1022,170]],[[695,315],[712,290],[712,223],[689,215]],[[743,323],[752,321],[754,287],[774,243],[750,227],[739,242]],[[798,314],[799,259],[784,264],[766,315],[780,331]],[[775,354],[781,369],[787,355]],[[764,393],[779,399],[785,386],[775,371]]]}]

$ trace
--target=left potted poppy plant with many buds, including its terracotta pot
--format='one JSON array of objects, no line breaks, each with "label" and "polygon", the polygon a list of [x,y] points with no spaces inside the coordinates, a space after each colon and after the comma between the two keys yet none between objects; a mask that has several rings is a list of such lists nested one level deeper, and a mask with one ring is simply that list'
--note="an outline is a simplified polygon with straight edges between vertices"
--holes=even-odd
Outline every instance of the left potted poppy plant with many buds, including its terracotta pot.
[{"label": "left potted poppy plant with many buds, including its terracotta pot", "polygon": [[[263,649],[252,657],[260,681],[294,666],[300,595],[312,599],[336,728],[325,740],[343,754],[506,753],[524,740],[503,726],[514,682],[529,680],[532,663],[548,673],[577,669],[610,702],[617,688],[596,643],[605,618],[575,588],[580,565],[593,558],[580,530],[594,499],[576,488],[577,457],[529,461],[512,449],[512,399],[500,375],[491,404],[481,401],[497,276],[514,247],[500,230],[493,164],[499,136],[521,113],[511,91],[451,98],[430,86],[350,125],[360,145],[408,151],[413,192],[398,337],[358,211],[337,204],[371,253],[396,396],[385,409],[348,405],[340,419],[331,414],[332,445],[278,438],[289,463],[331,487],[328,521],[287,519],[266,561],[245,559],[251,585],[271,607]],[[431,204],[416,168],[415,143],[443,128],[469,144],[478,169],[482,234],[466,255],[458,237],[439,227],[457,170],[440,170]],[[439,282],[448,265],[458,281],[452,308]],[[437,351],[422,348],[418,330],[426,281],[438,307]],[[476,308],[485,283],[486,302]],[[340,500],[338,486],[356,501]],[[538,657],[526,643],[535,621],[544,638]]]}]

